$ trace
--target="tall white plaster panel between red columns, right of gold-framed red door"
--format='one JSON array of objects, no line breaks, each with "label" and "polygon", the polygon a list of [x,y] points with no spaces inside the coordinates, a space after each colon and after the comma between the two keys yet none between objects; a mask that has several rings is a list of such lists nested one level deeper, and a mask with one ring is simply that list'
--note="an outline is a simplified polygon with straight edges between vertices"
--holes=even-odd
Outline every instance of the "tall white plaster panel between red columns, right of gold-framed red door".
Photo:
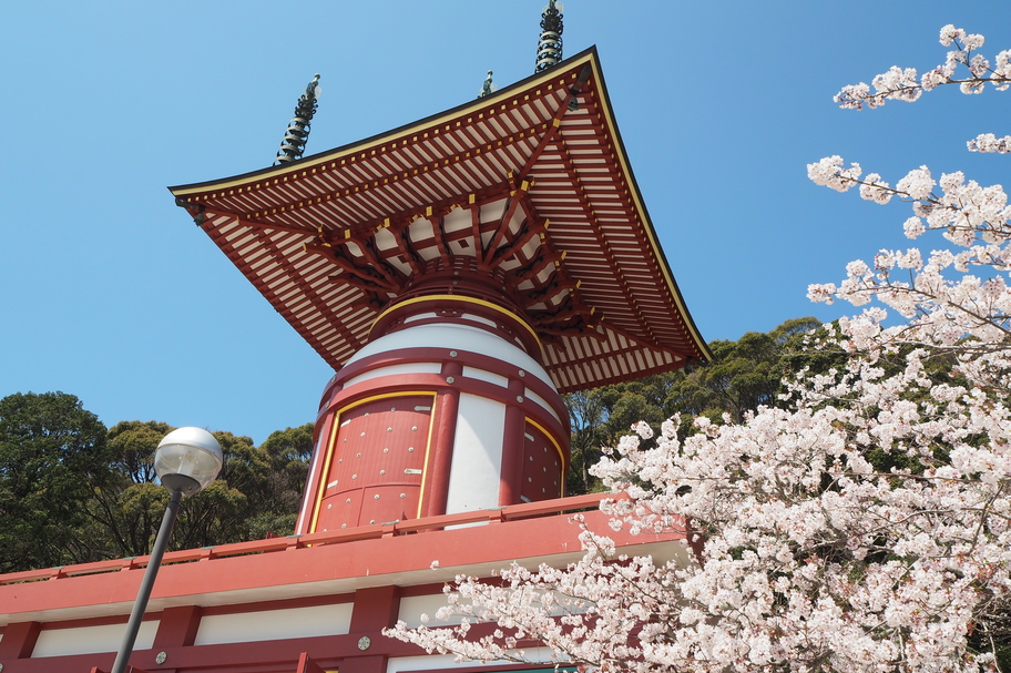
[{"label": "tall white plaster panel between red columns, right of gold-framed red door", "polygon": [[460,394],[446,513],[499,506],[506,406]]}]

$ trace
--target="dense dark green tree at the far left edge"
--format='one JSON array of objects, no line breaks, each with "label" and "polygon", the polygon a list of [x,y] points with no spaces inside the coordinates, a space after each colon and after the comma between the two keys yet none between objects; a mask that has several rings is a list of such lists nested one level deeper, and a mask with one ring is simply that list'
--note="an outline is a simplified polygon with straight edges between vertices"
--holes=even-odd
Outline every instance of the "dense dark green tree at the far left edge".
[{"label": "dense dark green tree at the far left edge", "polygon": [[111,479],[105,426],[76,397],[0,399],[0,572],[94,560],[85,504]]}]

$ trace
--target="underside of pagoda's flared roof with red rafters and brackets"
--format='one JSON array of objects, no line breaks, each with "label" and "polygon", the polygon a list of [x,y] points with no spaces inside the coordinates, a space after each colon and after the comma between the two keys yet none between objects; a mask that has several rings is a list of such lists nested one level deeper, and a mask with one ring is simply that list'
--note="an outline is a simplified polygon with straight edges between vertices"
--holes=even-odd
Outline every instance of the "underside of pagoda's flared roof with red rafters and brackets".
[{"label": "underside of pagoda's flared roof with red rafters and brackets", "polygon": [[415,279],[461,261],[520,297],[563,392],[709,357],[592,49],[380,136],[172,193],[335,369]]}]

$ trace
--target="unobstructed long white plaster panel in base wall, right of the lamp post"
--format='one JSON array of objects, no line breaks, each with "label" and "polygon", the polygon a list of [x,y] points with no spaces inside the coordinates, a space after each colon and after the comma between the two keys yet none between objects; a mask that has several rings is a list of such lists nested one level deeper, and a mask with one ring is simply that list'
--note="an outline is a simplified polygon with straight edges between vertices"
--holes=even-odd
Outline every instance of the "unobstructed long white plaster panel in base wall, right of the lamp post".
[{"label": "unobstructed long white plaster panel in base wall, right of the lamp post", "polygon": [[201,619],[194,645],[344,635],[351,628],[351,603],[212,614]]}]

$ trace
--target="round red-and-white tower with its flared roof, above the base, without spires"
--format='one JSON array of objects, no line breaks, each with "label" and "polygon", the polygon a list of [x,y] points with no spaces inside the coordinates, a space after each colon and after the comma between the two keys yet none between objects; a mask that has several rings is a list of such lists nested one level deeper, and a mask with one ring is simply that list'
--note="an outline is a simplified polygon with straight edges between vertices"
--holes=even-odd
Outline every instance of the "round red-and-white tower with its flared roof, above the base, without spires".
[{"label": "round red-and-white tower with its flared roof, above the base, without spires", "polygon": [[707,356],[592,50],[362,143],[172,193],[337,369],[299,533],[561,497],[560,392]]}]

